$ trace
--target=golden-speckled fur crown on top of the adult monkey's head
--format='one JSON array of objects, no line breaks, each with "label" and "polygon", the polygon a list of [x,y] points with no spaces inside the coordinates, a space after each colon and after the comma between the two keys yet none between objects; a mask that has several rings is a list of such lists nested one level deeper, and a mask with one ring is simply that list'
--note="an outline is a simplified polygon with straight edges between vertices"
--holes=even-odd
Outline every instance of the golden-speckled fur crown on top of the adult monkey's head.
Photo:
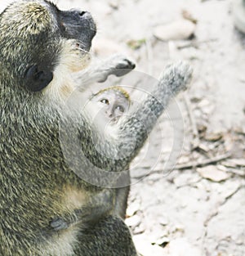
[{"label": "golden-speckled fur crown on top of the adult monkey's head", "polygon": [[[1,29],[5,32],[15,31],[20,37],[28,34],[38,34],[42,30],[54,28],[56,19],[53,18],[55,5],[43,0],[20,0],[12,2],[1,15]],[[51,25],[51,26],[50,26]]]}]

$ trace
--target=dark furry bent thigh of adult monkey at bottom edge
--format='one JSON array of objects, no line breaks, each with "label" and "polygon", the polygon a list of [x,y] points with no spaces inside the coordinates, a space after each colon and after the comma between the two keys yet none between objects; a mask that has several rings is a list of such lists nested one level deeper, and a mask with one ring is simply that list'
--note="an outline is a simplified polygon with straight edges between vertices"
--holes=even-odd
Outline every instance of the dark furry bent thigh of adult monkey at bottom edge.
[{"label": "dark furry bent thigh of adult monkey at bottom edge", "polygon": [[82,231],[74,256],[136,256],[131,233],[122,219],[109,216]]}]

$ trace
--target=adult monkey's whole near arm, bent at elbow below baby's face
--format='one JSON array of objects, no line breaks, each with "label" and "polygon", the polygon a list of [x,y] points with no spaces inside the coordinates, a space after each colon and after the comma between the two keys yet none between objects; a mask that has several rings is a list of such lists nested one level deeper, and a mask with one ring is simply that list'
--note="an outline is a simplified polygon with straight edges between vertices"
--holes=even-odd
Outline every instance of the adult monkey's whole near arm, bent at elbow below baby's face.
[{"label": "adult monkey's whole near arm, bent at elbow below baby's face", "polygon": [[[82,151],[87,150],[84,154],[86,159],[82,159],[82,164],[85,169],[96,169],[92,175],[97,175],[96,178],[102,182],[101,186],[107,186],[107,178],[110,181],[116,180],[118,177],[116,172],[122,171],[137,155],[158,117],[166,109],[171,98],[186,88],[191,74],[192,69],[184,62],[167,66],[158,84],[139,108],[131,115],[123,117],[118,125],[116,138],[98,134],[99,129],[93,129],[92,126],[87,131],[84,130],[84,126],[82,127],[80,132]],[[149,85],[149,88],[150,86],[152,85]],[[103,132],[104,128],[100,130]],[[86,141],[85,145],[84,141]],[[93,145],[94,141],[96,145]],[[105,175],[105,171],[112,173]]]}]

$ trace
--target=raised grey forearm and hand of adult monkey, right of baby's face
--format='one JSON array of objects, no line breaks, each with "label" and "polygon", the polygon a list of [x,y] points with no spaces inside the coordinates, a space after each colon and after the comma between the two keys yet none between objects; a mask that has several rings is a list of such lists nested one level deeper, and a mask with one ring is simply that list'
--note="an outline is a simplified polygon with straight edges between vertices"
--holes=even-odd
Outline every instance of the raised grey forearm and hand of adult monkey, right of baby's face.
[{"label": "raised grey forearm and hand of adult monkey, right of baby's face", "polygon": [[[130,162],[144,145],[149,132],[163,114],[173,97],[187,88],[192,76],[192,68],[185,62],[168,65],[157,86],[149,93],[138,110],[122,123],[118,132],[118,165]],[[122,155],[121,155],[122,154]]]}]

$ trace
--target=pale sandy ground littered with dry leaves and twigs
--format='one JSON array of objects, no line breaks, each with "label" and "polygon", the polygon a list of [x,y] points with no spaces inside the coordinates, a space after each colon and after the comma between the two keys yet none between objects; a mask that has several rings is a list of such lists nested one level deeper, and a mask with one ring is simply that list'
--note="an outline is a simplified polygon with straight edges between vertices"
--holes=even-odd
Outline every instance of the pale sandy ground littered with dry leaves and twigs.
[{"label": "pale sandy ground littered with dry leaves and twigs", "polygon": [[[55,2],[91,11],[98,59],[124,52],[136,60],[136,70],[154,78],[171,61],[194,68],[189,90],[171,104],[151,146],[131,166],[126,222],[139,253],[245,255],[245,37],[234,29],[232,2]],[[180,20],[183,11],[193,36],[156,38],[156,28]]]}]

